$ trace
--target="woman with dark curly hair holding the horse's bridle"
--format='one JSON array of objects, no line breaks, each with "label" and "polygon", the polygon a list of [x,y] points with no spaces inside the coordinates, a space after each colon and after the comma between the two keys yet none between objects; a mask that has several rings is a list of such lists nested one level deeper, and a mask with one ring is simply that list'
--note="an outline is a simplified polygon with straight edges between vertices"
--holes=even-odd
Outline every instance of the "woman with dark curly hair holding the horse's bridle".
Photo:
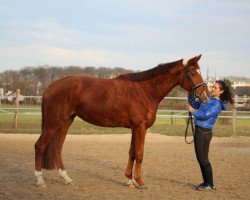
[{"label": "woman with dark curly hair holding the horse's bridle", "polygon": [[225,110],[227,103],[233,104],[232,93],[224,81],[214,83],[211,97],[206,103],[193,100],[188,97],[188,111],[195,118],[194,147],[195,154],[200,165],[203,183],[196,187],[197,190],[214,190],[213,171],[208,159],[209,145],[212,139],[212,128],[218,115]]}]

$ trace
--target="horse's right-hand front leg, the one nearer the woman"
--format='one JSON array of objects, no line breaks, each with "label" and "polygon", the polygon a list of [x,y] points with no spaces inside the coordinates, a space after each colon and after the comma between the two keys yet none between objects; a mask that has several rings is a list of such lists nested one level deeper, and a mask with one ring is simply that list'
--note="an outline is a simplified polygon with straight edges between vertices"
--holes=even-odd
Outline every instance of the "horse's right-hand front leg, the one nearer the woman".
[{"label": "horse's right-hand front leg, the one nearer the woman", "polygon": [[135,174],[134,179],[136,181],[136,186],[139,189],[146,188],[143,180],[142,180],[142,161],[143,161],[143,155],[144,155],[144,142],[145,142],[145,135],[146,135],[146,128],[143,126],[139,126],[134,128],[133,134],[135,137],[134,141],[134,156],[135,156]]}]

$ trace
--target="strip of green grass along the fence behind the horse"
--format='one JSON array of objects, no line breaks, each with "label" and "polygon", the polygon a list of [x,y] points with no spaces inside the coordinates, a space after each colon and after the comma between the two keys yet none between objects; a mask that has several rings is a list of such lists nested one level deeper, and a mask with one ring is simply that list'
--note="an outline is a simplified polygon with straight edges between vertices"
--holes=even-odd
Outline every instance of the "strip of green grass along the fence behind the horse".
[{"label": "strip of green grass along the fence behind the horse", "polygon": [[[4,107],[6,108],[6,107]],[[8,107],[10,108],[10,107]],[[12,107],[13,108],[13,107]],[[25,108],[25,107],[23,107]],[[3,107],[0,107],[3,109]],[[6,111],[8,114],[6,114]],[[28,115],[33,113],[33,115]],[[5,110],[5,114],[0,112],[0,132],[1,133],[41,133],[41,115],[40,107],[34,106],[32,110],[24,109],[19,111],[17,129],[13,129],[14,110]],[[160,114],[163,114],[162,112]],[[169,114],[165,112],[164,114]],[[184,136],[186,129],[186,121],[184,118],[165,118],[157,117],[155,124],[149,129],[151,133],[160,133],[164,135]],[[237,135],[250,136],[250,123],[246,119],[236,120]],[[127,128],[104,128],[91,125],[82,121],[79,118],[75,118],[74,123],[69,129],[70,134],[126,134],[130,133],[130,129]],[[189,128],[189,135],[191,135],[191,127]],[[226,123],[218,120],[214,129],[214,136],[217,137],[229,137],[233,134],[232,120],[227,120]]]}]

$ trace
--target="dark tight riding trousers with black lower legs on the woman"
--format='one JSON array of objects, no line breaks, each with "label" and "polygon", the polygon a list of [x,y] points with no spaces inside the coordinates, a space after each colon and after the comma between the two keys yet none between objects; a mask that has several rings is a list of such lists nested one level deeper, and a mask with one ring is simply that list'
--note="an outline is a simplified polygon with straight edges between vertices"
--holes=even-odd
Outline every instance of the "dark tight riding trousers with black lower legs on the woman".
[{"label": "dark tight riding trousers with black lower legs on the woman", "polygon": [[196,158],[201,168],[204,183],[213,186],[213,170],[208,159],[212,134],[212,129],[195,126],[194,148]]}]

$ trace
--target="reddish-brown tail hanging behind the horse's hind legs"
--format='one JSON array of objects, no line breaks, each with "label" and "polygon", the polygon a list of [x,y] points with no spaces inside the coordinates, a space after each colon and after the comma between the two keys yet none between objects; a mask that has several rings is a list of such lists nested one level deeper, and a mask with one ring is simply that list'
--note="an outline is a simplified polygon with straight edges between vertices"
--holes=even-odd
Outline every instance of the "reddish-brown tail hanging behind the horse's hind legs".
[{"label": "reddish-brown tail hanging behind the horse's hind legs", "polygon": [[[42,98],[42,134],[44,133],[45,128],[45,110],[44,110],[44,98]],[[57,137],[54,135],[50,139],[49,144],[46,146],[43,155],[42,155],[42,168],[52,170],[59,167],[59,159],[60,156],[58,155],[57,149]]]}]

